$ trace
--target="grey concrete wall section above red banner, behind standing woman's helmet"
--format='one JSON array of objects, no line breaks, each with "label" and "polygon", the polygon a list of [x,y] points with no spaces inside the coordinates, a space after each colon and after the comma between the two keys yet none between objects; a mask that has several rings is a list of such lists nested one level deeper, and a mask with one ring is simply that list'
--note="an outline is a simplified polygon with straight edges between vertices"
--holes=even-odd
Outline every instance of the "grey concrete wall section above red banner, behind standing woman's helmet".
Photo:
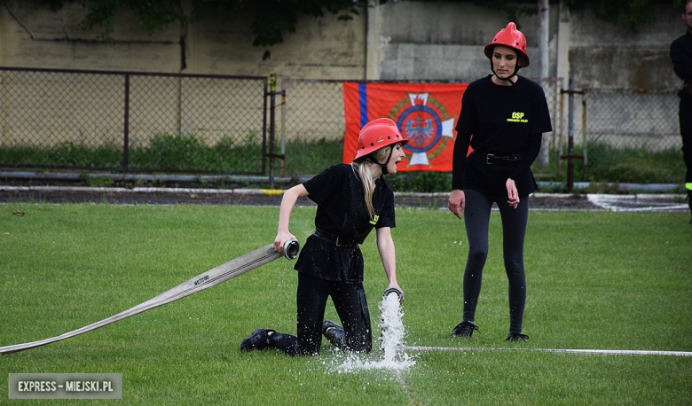
[{"label": "grey concrete wall section above red banner, behind standing woman's helmet", "polygon": [[[369,71],[379,69],[379,77],[371,74],[368,79],[470,82],[491,74],[483,50],[508,22],[505,15],[473,4],[389,2],[371,9],[370,15],[381,20],[382,51],[380,60],[368,60],[379,65]],[[551,9],[549,73],[553,77],[557,15],[557,9]],[[521,73],[538,77],[538,18],[524,16],[515,23],[526,36],[531,59],[531,66]]]}]

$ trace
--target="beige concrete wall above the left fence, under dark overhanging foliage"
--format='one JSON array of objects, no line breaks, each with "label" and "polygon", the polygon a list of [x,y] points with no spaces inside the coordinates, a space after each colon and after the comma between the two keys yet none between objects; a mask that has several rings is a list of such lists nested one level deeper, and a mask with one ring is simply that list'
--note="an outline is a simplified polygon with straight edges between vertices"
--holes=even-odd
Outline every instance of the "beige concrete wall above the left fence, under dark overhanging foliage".
[{"label": "beige concrete wall above the left fence, under dark overhanging foliage", "polygon": [[[183,4],[189,6],[190,1]],[[189,7],[188,7],[189,8]],[[117,15],[114,42],[99,40],[100,31],[75,26],[85,12],[68,4],[57,12],[32,0],[0,4],[0,66],[130,70],[188,74],[269,75],[311,79],[363,79],[366,63],[366,15],[339,21],[298,16],[295,34],[270,48],[252,46],[252,17],[233,20],[213,10],[189,27],[172,25],[149,35],[131,12]]]}]

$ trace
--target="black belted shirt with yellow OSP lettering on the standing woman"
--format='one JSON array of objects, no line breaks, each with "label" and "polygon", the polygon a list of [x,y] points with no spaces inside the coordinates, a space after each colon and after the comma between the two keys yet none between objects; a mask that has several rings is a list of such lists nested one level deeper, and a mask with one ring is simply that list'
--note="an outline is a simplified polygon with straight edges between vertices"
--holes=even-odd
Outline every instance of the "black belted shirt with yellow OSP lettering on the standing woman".
[{"label": "black belted shirt with yellow OSP lettering on the standing woman", "polygon": [[[538,83],[522,76],[512,86],[499,86],[491,77],[471,82],[461,99],[452,189],[505,196],[505,183],[512,178],[519,196],[526,196],[538,187],[531,163],[539,156],[542,134],[553,130],[546,95]],[[479,154],[466,158],[469,144],[498,156],[522,153],[523,159],[508,166],[487,165]]]}]

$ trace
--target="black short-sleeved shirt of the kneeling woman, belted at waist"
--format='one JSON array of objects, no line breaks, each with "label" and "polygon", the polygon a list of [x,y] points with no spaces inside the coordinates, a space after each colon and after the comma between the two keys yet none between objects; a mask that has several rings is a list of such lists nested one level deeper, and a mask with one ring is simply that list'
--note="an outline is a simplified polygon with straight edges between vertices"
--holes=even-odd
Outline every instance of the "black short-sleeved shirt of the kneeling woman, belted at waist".
[{"label": "black short-sleeved shirt of the kneeling woman, belted at waist", "polygon": [[[366,239],[373,228],[396,226],[394,193],[380,177],[373,194],[374,219],[367,212],[363,185],[349,164],[334,165],[303,186],[318,204],[315,227],[334,236]],[[363,255],[358,246],[335,246],[311,236],[305,242],[295,269],[326,280],[363,281]]]}]

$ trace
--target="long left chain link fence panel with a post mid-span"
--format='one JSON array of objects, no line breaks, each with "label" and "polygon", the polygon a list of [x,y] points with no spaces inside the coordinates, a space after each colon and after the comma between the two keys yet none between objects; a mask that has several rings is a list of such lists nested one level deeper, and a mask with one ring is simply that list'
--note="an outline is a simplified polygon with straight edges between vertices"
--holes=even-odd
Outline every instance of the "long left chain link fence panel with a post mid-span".
[{"label": "long left chain link fence panel with a post mid-span", "polygon": [[0,68],[0,166],[264,172],[256,76]]}]

